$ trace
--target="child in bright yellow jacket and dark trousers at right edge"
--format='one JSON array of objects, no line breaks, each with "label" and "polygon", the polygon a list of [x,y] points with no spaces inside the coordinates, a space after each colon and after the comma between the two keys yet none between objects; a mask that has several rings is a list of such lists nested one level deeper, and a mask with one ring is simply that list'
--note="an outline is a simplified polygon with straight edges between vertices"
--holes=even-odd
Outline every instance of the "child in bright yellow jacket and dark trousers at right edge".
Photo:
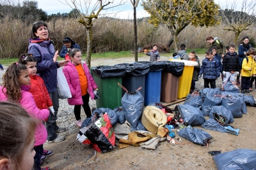
[{"label": "child in bright yellow jacket and dark trousers at right edge", "polygon": [[253,56],[256,55],[254,48],[249,48],[246,52],[246,58],[243,59],[242,69],[241,69],[241,93],[250,95],[250,78],[251,76],[256,76],[256,66]]}]

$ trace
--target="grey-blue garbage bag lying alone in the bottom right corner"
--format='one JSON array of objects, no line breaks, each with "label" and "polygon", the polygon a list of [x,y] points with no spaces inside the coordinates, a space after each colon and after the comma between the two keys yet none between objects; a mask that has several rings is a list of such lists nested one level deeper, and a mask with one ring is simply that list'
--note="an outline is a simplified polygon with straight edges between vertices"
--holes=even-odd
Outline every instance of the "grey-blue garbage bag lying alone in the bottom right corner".
[{"label": "grey-blue garbage bag lying alone in the bottom right corner", "polygon": [[237,149],[220,153],[212,157],[218,170],[255,170],[256,151]]}]

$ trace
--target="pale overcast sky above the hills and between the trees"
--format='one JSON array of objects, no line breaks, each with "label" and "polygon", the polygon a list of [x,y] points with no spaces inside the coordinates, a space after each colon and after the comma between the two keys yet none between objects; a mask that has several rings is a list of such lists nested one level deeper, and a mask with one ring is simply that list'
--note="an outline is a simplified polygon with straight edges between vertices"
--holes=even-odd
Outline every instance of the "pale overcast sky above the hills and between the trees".
[{"label": "pale overcast sky above the hills and between the trees", "polygon": [[[42,10],[46,11],[48,15],[51,15],[52,13],[69,13],[72,8],[70,6],[68,6],[67,4],[63,4],[65,3],[65,0],[37,0],[38,1],[38,8],[41,8]],[[68,2],[71,2],[70,0],[67,0]],[[98,0],[86,0],[86,1],[92,1],[92,5],[95,4],[96,1]],[[109,1],[113,1],[113,0],[109,0]],[[118,2],[120,2],[121,0],[115,0],[114,3],[109,4],[108,6],[115,6]],[[125,4],[123,4],[122,6],[117,6],[115,8],[111,8],[108,11],[102,11],[100,14],[103,13],[114,13],[115,16],[111,16],[111,17],[116,17],[116,18],[133,18],[133,8],[131,5],[130,0],[124,0],[126,1]],[[132,0],[133,1],[133,0]],[[223,3],[222,7],[224,6],[225,3],[227,3],[227,0],[214,0],[215,3]],[[232,3],[232,1],[234,0],[228,0],[228,2]],[[247,1],[255,1],[255,0],[247,0]],[[81,0],[81,2],[83,2],[83,0]],[[237,6],[241,6],[241,0],[237,0],[237,2],[239,3]],[[71,3],[70,3],[71,4]],[[118,12],[118,13],[117,13]],[[142,18],[142,17],[148,17],[149,14],[147,13],[147,11],[143,10],[143,7],[141,6],[141,0],[140,3],[138,4],[138,7],[136,8],[136,17],[137,18]]]}]

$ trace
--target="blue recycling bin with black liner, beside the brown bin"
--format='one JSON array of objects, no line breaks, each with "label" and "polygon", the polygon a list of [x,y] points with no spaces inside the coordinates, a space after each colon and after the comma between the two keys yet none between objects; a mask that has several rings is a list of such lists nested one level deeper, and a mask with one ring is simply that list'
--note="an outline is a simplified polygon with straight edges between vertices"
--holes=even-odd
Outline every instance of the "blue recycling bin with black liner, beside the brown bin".
[{"label": "blue recycling bin with black liner, beside the brown bin", "polygon": [[166,67],[164,62],[140,61],[139,63],[147,64],[149,72],[145,75],[145,101],[144,105],[150,103],[160,103],[161,96],[161,73]]}]

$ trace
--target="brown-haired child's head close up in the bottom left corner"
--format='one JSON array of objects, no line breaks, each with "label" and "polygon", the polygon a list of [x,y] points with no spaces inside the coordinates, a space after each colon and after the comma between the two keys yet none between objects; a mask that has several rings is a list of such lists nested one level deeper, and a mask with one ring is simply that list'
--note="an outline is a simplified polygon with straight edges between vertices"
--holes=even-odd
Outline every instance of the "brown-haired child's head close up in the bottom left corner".
[{"label": "brown-haired child's head close up in the bottom left corner", "polygon": [[0,108],[0,169],[33,169],[38,121],[18,104],[0,102]]}]

